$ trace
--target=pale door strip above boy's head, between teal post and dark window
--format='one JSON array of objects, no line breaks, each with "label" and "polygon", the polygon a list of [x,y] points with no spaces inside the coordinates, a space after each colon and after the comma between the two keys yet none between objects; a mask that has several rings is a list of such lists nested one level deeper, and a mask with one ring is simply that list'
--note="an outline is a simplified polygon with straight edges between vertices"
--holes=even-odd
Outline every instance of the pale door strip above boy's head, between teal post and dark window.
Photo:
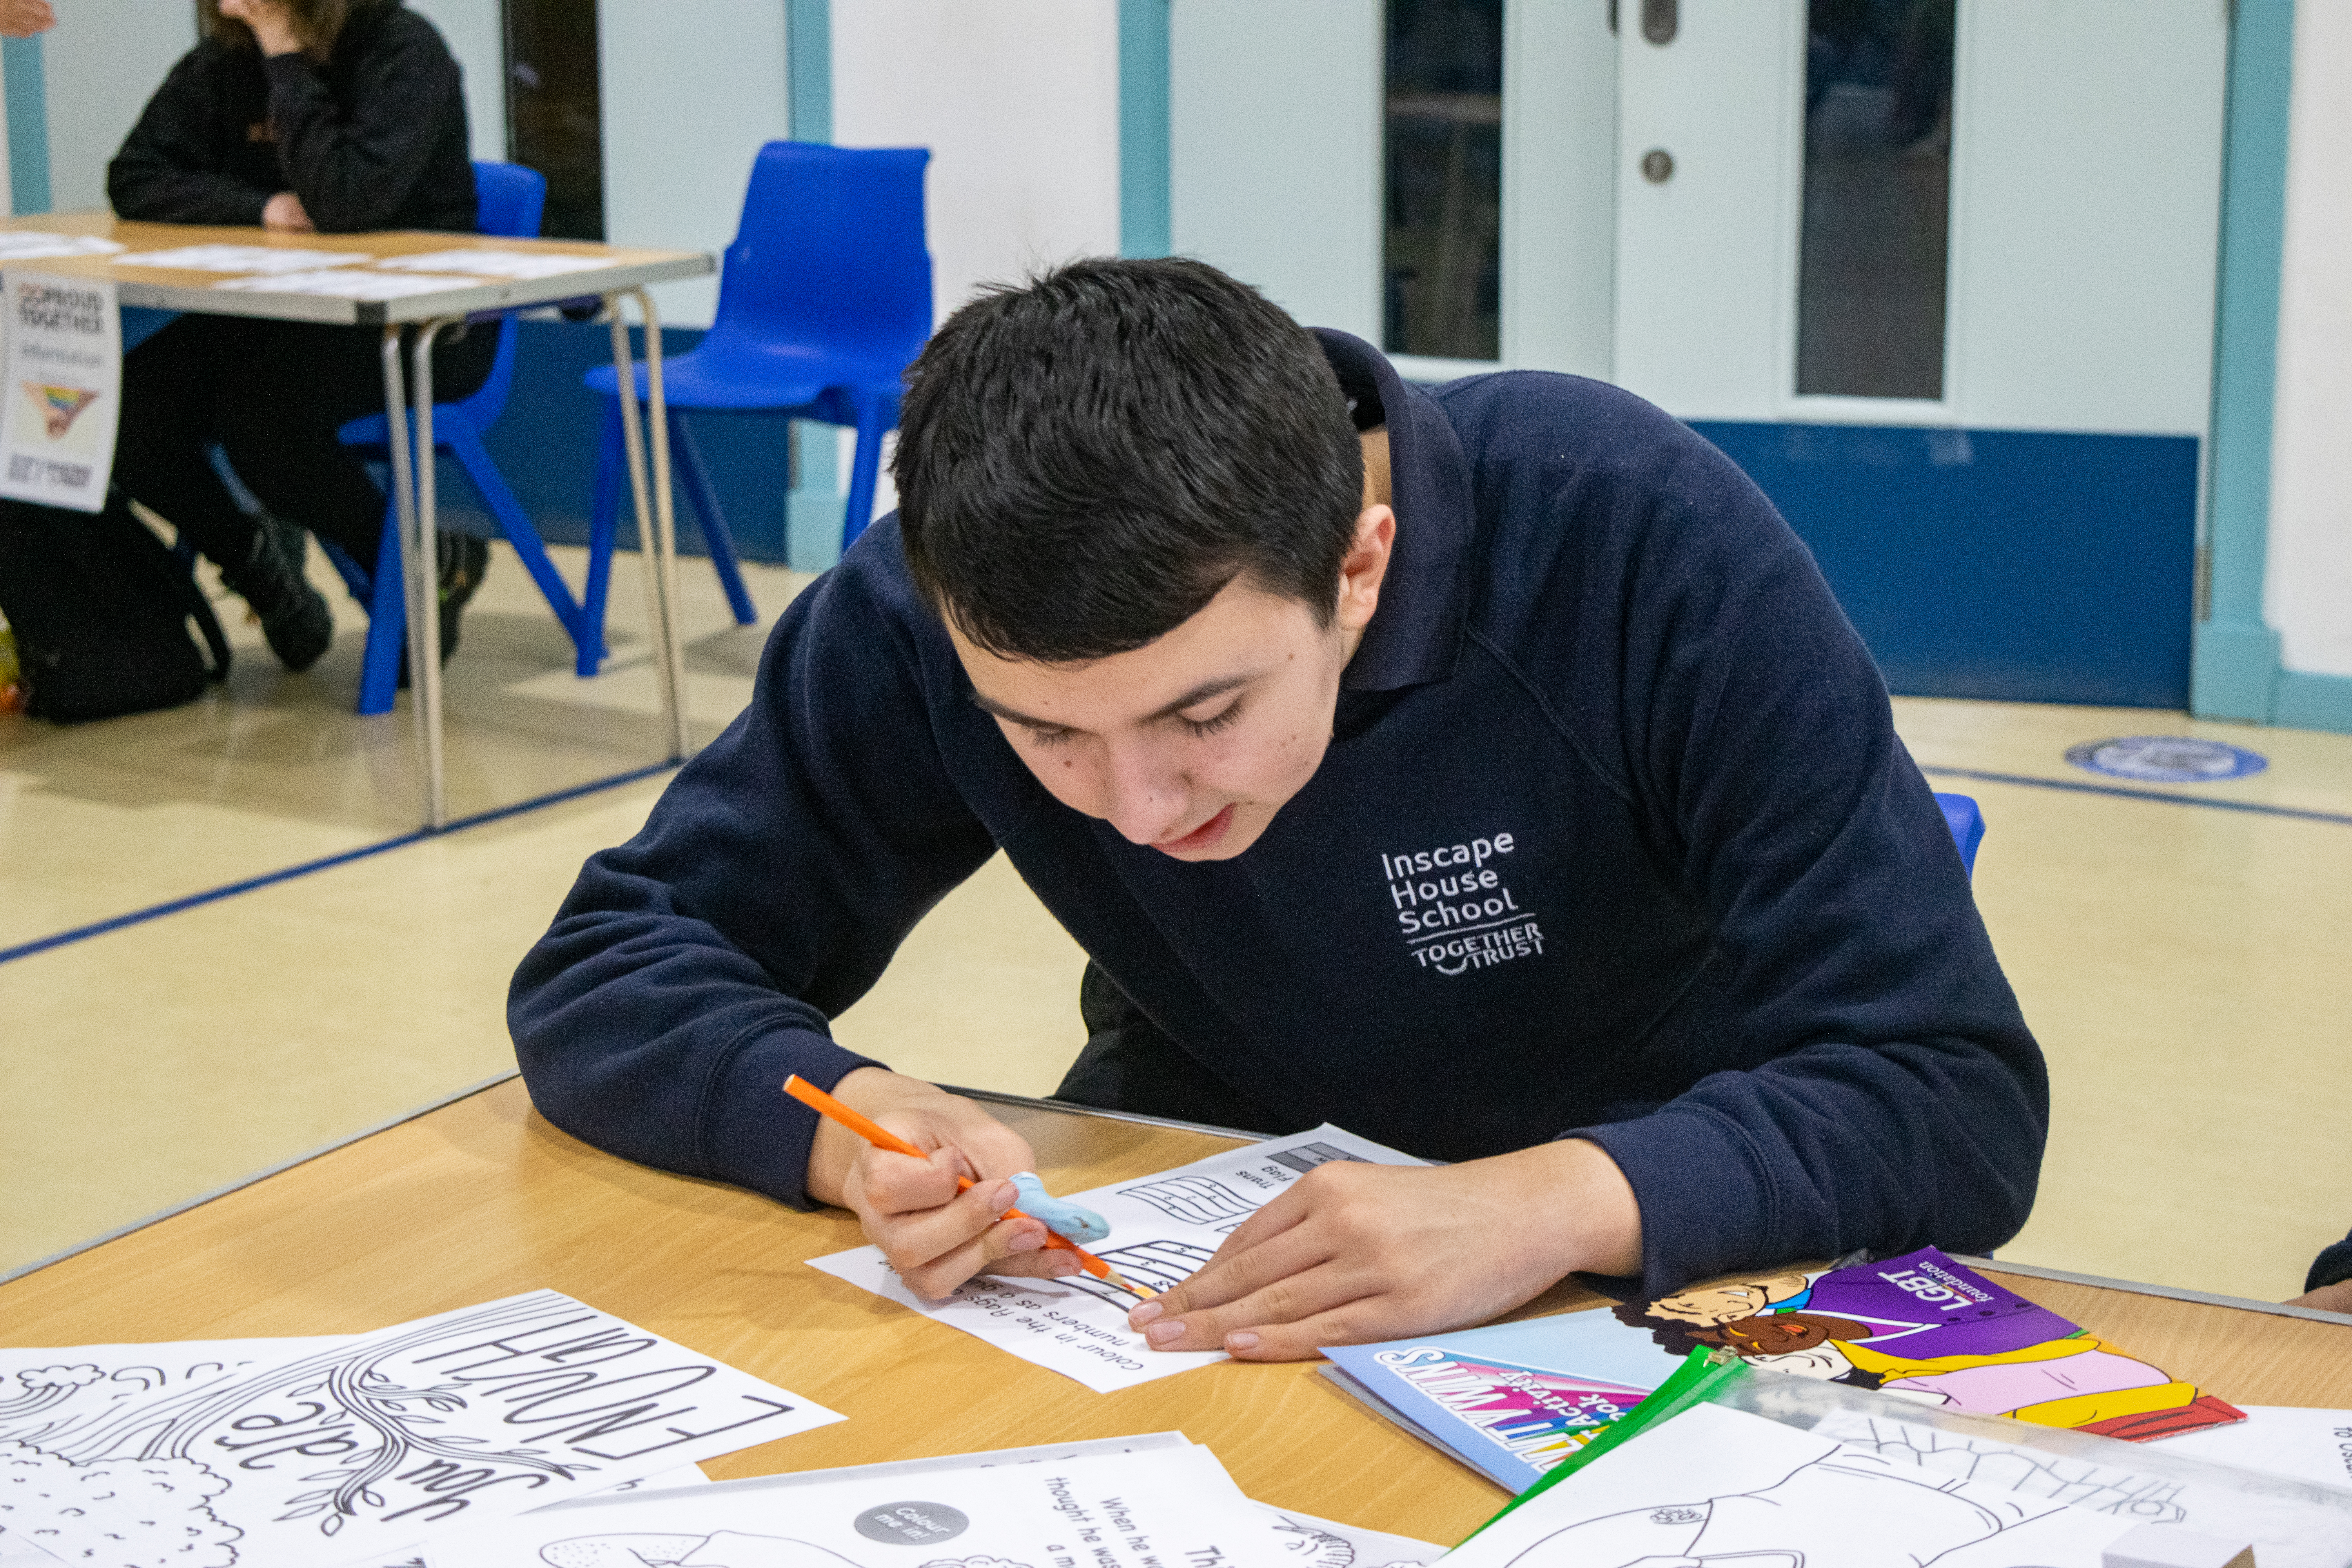
[{"label": "pale door strip above boy's head, between teal post and dark window", "polygon": [[1174,0],[1169,14],[1171,247],[1310,327],[1378,343],[1383,7]]}]

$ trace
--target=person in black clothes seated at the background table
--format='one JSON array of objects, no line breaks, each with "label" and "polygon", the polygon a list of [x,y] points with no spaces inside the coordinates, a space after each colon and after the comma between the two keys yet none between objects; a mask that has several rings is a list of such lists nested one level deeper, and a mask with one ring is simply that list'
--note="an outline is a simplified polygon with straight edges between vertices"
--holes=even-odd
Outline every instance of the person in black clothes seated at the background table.
[{"label": "person in black clothes seated at the background table", "polygon": [[[106,172],[115,216],[301,233],[470,230],[473,165],[459,68],[400,0],[202,0],[205,38],[165,78]],[[303,534],[376,567],[383,491],[334,433],[383,411],[381,331],[183,315],[122,360],[115,487],[221,567],[289,670],[334,635],[303,581]],[[452,341],[435,395],[489,376],[496,334]],[[207,447],[268,508],[242,512]],[[266,522],[278,522],[266,527]],[[442,658],[489,548],[442,534]]]}]

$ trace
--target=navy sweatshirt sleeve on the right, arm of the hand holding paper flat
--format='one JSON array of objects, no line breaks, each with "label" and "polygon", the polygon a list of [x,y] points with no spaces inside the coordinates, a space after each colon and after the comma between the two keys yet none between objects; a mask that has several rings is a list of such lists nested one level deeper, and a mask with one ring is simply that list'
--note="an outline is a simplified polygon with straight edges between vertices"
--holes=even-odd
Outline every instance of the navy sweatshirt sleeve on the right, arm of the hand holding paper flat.
[{"label": "navy sweatshirt sleeve on the right, arm of the hand holding paper flat", "polygon": [[1738,1070],[1573,1133],[1639,1197],[1637,1291],[1992,1251],[2034,1199],[2042,1051],[1813,557],[1729,458],[1679,425],[1661,444],[1663,501],[1623,562],[1623,766],[1745,1039],[1722,1044]]}]

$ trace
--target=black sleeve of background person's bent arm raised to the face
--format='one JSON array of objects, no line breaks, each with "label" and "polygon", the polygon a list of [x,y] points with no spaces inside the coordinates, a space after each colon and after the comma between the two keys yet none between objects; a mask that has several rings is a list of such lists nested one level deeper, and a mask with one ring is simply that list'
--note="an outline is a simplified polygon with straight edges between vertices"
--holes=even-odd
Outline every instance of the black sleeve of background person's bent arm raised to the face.
[{"label": "black sleeve of background person's bent arm raised to the face", "polygon": [[426,176],[466,99],[456,61],[430,28],[386,28],[358,61],[350,108],[303,54],[263,61],[287,186],[322,235],[388,228]]}]

